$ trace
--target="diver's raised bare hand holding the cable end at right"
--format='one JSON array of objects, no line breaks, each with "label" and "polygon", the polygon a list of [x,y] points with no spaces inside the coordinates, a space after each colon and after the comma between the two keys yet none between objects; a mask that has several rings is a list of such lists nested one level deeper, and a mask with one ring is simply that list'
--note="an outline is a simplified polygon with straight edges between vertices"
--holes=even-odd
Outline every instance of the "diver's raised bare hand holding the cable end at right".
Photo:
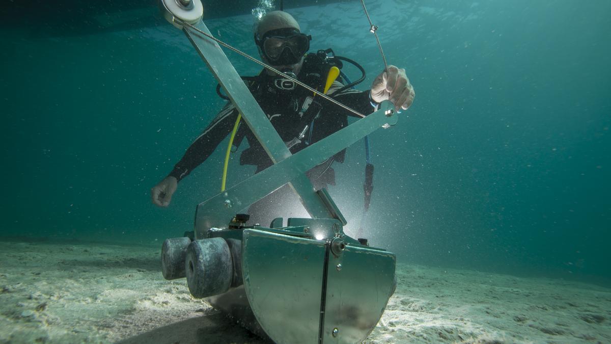
[{"label": "diver's raised bare hand holding the cable end at right", "polygon": [[404,69],[389,65],[388,70],[382,72],[371,84],[371,100],[381,103],[390,100],[395,110],[408,110],[416,96],[414,88],[409,83]]}]

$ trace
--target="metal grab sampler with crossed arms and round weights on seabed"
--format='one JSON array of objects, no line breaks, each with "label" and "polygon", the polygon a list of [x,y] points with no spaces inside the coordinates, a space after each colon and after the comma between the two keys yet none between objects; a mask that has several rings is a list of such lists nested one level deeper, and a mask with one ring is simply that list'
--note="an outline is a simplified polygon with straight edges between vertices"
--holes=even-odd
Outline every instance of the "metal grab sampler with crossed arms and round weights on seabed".
[{"label": "metal grab sampler with crossed arms and round weights on seabed", "polygon": [[[175,6],[176,0],[162,1]],[[172,13],[164,15],[180,26]],[[361,342],[375,328],[395,290],[395,255],[343,233],[343,215],[326,190],[315,191],[305,172],[374,130],[395,124],[392,103],[383,102],[375,113],[291,154],[218,43],[191,25],[210,31],[202,21],[181,26],[274,165],[197,206],[193,241],[181,238],[185,244],[162,253],[164,277],[165,264],[183,264],[168,269],[182,274],[166,279],[185,277],[186,271],[191,290],[191,282],[203,278],[197,271],[214,270],[205,266],[212,261],[208,255],[216,261],[221,255],[194,256],[191,247],[213,240],[215,245],[229,242],[224,254],[230,252],[225,261],[233,277],[222,281],[224,292],[199,297],[276,343]],[[281,228],[229,228],[236,212],[287,183],[312,219],[288,219],[288,226]]]}]

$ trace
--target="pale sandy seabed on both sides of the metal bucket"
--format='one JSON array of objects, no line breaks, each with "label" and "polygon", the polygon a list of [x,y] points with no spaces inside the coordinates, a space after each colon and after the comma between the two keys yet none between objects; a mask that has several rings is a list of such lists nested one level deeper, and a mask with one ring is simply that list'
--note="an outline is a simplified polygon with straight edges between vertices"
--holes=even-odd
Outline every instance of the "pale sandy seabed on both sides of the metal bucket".
[{"label": "pale sandy seabed on both sides of the metal bucket", "polygon": [[[159,248],[0,242],[0,343],[263,343],[161,277]],[[365,343],[611,343],[611,290],[398,264]]]}]

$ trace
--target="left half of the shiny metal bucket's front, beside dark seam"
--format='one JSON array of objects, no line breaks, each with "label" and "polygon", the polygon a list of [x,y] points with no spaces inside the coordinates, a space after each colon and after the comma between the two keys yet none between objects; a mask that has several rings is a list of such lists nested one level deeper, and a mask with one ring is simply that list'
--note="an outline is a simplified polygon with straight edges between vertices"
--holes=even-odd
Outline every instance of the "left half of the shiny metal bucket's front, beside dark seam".
[{"label": "left half of the shiny metal bucket's front, beside dark seam", "polygon": [[244,289],[276,343],[318,343],[324,241],[244,230]]}]

